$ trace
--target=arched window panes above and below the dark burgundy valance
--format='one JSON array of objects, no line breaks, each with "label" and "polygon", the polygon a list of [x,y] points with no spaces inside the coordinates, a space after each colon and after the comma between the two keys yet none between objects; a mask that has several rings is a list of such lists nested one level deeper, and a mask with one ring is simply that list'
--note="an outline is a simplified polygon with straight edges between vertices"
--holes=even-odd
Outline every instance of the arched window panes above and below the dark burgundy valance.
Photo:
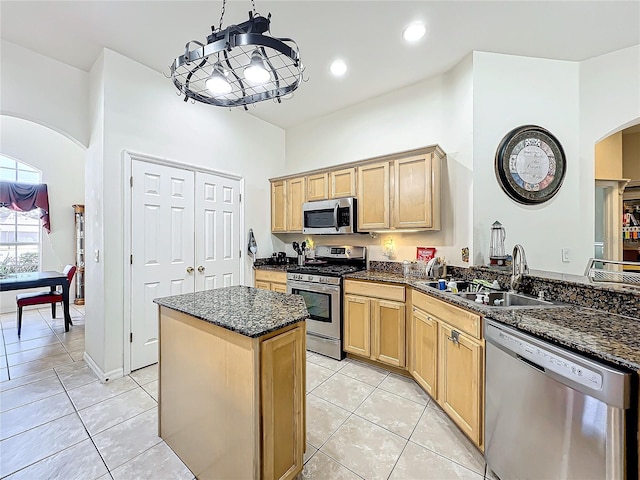
[{"label": "arched window panes above and below the dark burgundy valance", "polygon": [[[0,180],[40,183],[35,168],[0,155]],[[35,272],[40,266],[40,209],[16,212],[0,207],[0,273]]]}]

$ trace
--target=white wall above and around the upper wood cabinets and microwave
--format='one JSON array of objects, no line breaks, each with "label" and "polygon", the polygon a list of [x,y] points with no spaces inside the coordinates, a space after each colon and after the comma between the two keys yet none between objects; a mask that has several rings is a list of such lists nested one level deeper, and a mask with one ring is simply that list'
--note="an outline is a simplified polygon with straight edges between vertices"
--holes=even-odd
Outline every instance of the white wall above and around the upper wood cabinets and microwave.
[{"label": "white wall above and around the upper wood cabinets and microwave", "polygon": [[[392,237],[395,260],[415,259],[416,246],[432,246],[448,263],[462,265],[460,249],[470,245],[471,56],[446,75],[379,96],[287,130],[286,170],[291,174],[439,144],[448,154],[442,176],[439,232],[316,236],[316,244],[369,247],[372,260],[387,260],[381,245]],[[450,154],[450,155],[449,155]],[[462,213],[456,210],[462,210]],[[301,240],[288,234],[285,244]],[[291,253],[288,245],[277,244]]]}]

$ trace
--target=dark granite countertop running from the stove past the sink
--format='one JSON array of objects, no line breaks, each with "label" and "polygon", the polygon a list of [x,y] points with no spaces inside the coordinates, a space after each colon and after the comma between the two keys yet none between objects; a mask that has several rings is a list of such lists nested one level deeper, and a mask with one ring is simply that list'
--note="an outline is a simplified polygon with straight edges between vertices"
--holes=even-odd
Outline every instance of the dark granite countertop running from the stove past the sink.
[{"label": "dark granite countertop running from the stove past the sink", "polygon": [[591,357],[640,371],[640,319],[637,318],[569,304],[489,307],[430,287],[424,279],[398,273],[362,271],[345,278],[403,284]]}]

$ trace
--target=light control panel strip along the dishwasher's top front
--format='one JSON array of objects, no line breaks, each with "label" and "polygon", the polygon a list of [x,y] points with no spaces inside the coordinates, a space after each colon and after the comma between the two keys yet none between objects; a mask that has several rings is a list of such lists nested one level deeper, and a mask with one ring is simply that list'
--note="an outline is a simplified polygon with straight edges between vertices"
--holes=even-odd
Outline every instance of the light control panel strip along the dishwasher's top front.
[{"label": "light control panel strip along the dishwasher's top front", "polygon": [[500,329],[496,330],[498,342],[520,357],[585,387],[593,388],[594,390],[602,388],[602,375],[598,371],[579,365],[561,355],[547,351]]}]

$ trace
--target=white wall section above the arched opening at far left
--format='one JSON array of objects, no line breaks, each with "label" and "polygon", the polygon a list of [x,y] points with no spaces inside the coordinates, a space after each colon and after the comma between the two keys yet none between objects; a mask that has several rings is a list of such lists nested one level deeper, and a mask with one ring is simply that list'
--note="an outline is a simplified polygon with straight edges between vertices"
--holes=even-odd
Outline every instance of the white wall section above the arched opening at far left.
[{"label": "white wall section above the arched opening at far left", "polygon": [[0,49],[0,113],[48,126],[87,146],[87,72],[6,40]]}]

